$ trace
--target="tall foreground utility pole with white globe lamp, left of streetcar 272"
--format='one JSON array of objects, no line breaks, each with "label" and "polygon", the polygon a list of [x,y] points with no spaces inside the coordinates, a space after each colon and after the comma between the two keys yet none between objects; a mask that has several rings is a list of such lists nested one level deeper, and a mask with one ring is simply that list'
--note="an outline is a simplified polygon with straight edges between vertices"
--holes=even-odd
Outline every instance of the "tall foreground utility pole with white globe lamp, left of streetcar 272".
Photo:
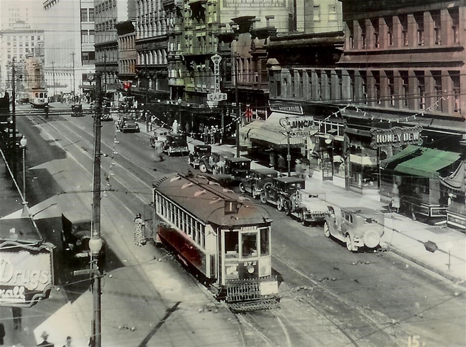
[{"label": "tall foreground utility pole with white globe lamp, left of streetcar 272", "polygon": [[92,294],[93,300],[93,347],[101,347],[101,272],[99,269],[102,256],[103,241],[101,239],[100,215],[101,215],[101,115],[102,115],[102,72],[96,73],[96,109],[95,144],[94,144],[94,182],[92,198],[92,237],[89,240],[89,248],[92,252],[91,266],[93,273]]}]

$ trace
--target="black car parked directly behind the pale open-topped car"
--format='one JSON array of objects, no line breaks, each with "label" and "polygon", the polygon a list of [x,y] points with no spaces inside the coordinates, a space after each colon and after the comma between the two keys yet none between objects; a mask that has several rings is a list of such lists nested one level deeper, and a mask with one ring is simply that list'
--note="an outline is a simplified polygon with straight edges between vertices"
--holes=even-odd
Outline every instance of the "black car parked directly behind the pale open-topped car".
[{"label": "black car parked directly behind the pale open-topped car", "polygon": [[304,188],[305,181],[302,178],[277,177],[264,184],[260,192],[260,202],[276,205],[278,211],[286,211],[291,206],[291,195]]}]

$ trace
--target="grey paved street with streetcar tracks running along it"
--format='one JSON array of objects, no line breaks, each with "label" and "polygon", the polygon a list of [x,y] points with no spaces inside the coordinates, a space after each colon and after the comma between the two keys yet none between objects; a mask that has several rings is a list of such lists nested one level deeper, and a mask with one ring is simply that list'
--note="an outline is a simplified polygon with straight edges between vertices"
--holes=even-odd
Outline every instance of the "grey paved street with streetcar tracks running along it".
[{"label": "grey paved street with streetcar tracks running along it", "polygon": [[[18,109],[19,114],[28,110]],[[28,139],[31,213],[45,238],[60,249],[61,213],[91,208],[92,118],[71,118],[52,108],[47,120],[19,116],[18,129]],[[281,310],[231,314],[163,249],[133,245],[132,220],[151,202],[151,182],[164,173],[186,172],[186,160],[155,162],[147,134],[115,133],[113,122],[103,123],[102,142],[102,187],[108,189],[102,230],[110,248],[103,291],[105,346],[466,345],[463,287],[391,252],[350,253],[327,239],[321,226],[304,227],[270,206],[272,265],[284,280]],[[88,281],[71,276],[72,270],[60,267],[62,291],[40,303],[41,319],[31,320],[30,327],[36,338],[48,329],[51,341],[73,335],[81,346],[88,340],[91,294]],[[57,324],[64,319],[77,324]],[[56,326],[63,330],[52,332]],[[126,329],[133,326],[134,331]]]}]

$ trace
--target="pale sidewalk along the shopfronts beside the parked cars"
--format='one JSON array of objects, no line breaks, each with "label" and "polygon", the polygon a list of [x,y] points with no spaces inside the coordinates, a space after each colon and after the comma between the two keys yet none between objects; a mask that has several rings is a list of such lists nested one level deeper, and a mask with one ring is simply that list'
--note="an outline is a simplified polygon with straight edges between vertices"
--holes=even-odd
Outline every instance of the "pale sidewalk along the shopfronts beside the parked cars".
[{"label": "pale sidewalk along the shopfronts beside the parked cars", "polygon": [[[141,133],[146,133],[145,123],[140,124]],[[202,141],[188,137],[188,147],[203,144]],[[212,151],[227,151],[236,153],[234,146],[212,145]],[[245,155],[247,152],[240,152]],[[252,168],[263,167],[257,162],[251,162]],[[314,171],[306,181],[306,190],[312,194],[321,194],[331,205],[340,207],[368,207],[384,210],[379,195],[361,195],[341,187],[341,182],[322,181],[319,172]],[[429,252],[424,242],[435,242],[438,249]],[[385,233],[382,237],[383,246],[399,256],[415,264],[425,267],[453,282],[466,285],[466,236],[460,231],[448,227],[432,226],[414,221],[401,214],[385,214]]]}]

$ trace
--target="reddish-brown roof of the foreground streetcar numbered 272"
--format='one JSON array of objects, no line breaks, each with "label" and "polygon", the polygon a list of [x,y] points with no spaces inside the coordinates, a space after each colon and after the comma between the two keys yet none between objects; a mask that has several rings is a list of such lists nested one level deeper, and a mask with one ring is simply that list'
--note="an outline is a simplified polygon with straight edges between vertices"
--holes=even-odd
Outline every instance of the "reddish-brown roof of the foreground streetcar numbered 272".
[{"label": "reddish-brown roof of the foreground streetcar numbered 272", "polygon": [[[217,225],[239,226],[270,221],[270,214],[260,205],[242,198],[233,190],[209,183],[204,176],[169,174],[153,187],[198,218]],[[238,202],[235,212],[225,211],[225,202]]]}]

